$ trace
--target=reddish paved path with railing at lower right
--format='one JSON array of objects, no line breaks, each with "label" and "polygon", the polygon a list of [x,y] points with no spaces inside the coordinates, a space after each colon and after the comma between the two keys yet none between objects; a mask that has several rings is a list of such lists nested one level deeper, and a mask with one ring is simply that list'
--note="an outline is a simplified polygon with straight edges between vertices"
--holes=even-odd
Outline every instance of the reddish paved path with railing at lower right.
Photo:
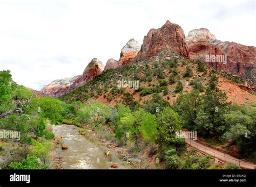
[{"label": "reddish paved path with railing at lower right", "polygon": [[221,153],[218,150],[212,149],[210,147],[206,147],[205,145],[198,143],[196,141],[193,141],[192,139],[185,139],[185,141],[188,145],[190,145],[194,148],[197,148],[201,152],[204,152],[208,155],[212,155],[221,161],[235,163],[238,166],[248,168],[248,169],[254,169],[254,167],[256,166],[253,163],[241,161],[240,159],[238,159],[234,156],[231,156],[230,154]]}]

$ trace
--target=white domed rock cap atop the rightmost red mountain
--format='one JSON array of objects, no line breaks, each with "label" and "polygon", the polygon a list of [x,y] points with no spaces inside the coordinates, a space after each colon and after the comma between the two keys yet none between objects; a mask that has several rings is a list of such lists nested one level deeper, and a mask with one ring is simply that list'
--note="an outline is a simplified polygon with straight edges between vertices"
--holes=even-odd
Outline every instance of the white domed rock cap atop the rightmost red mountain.
[{"label": "white domed rock cap atop the rightmost red mountain", "polygon": [[215,40],[215,35],[213,35],[207,28],[194,29],[188,32],[186,36],[186,41],[189,40]]}]

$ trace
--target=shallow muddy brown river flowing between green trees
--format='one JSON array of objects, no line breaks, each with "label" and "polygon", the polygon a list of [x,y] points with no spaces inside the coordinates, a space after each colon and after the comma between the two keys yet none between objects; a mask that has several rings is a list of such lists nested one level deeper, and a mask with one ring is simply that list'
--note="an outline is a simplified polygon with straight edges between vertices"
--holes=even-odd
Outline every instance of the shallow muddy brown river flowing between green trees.
[{"label": "shallow muddy brown river flowing between green trees", "polygon": [[66,150],[60,147],[54,150],[55,157],[61,158],[58,164],[63,169],[112,169],[114,163],[118,164],[117,169],[130,169],[130,165],[120,161],[117,156],[107,157],[104,148],[79,134],[77,126],[53,125],[52,132],[55,137],[61,135],[63,144],[68,146]]}]

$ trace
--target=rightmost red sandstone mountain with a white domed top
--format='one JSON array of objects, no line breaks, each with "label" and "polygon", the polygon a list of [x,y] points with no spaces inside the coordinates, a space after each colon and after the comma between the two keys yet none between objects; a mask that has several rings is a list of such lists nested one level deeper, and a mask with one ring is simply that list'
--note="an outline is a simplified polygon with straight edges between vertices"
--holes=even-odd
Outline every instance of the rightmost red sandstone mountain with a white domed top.
[{"label": "rightmost red sandstone mountain with a white domed top", "polygon": [[207,28],[190,31],[186,37],[186,43],[190,49],[191,59],[205,61],[205,55],[226,55],[225,62],[211,61],[205,63],[216,69],[255,81],[255,76],[252,73],[256,71],[255,47],[217,40]]}]

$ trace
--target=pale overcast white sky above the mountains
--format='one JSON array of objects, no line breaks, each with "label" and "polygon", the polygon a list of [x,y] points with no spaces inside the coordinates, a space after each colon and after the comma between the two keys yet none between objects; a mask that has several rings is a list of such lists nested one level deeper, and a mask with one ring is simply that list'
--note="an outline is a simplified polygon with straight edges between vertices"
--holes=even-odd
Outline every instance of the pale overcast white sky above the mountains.
[{"label": "pale overcast white sky above the mountains", "polygon": [[0,0],[0,70],[25,87],[40,90],[83,73],[97,57],[119,59],[134,38],[143,44],[166,20],[185,35],[207,28],[218,40],[256,46],[256,1],[205,0]]}]

